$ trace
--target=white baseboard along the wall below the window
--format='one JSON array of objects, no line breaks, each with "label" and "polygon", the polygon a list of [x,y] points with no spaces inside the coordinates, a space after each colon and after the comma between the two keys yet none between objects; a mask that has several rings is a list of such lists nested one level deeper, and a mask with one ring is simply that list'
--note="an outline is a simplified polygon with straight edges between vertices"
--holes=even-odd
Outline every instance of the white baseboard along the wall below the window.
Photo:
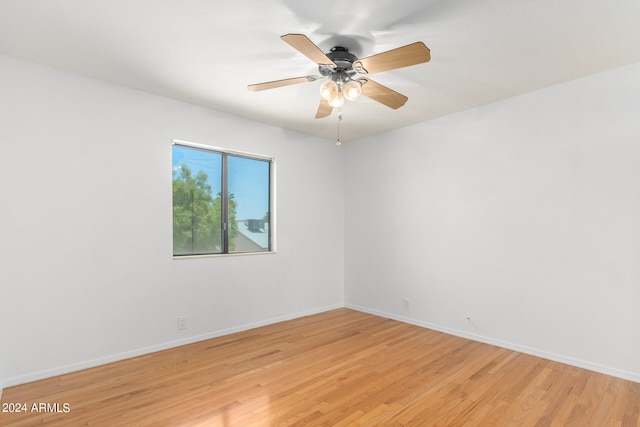
[{"label": "white baseboard along the wall below the window", "polygon": [[204,341],[211,338],[218,338],[221,336],[234,334],[236,332],[248,331],[250,329],[259,328],[261,326],[272,325],[274,323],[280,323],[287,320],[293,320],[300,317],[310,316],[313,314],[324,313],[325,311],[335,310],[343,307],[344,305],[342,304],[335,304],[335,305],[321,307],[313,310],[296,312],[296,313],[287,314],[284,316],[261,320],[259,322],[236,326],[229,329],[213,331],[206,334],[196,335],[196,336],[175,340],[175,341],[169,341],[163,344],[152,345],[149,347],[138,348],[135,350],[126,351],[118,354],[112,354],[105,357],[99,357],[97,359],[87,360],[84,362],[72,363],[69,365],[59,366],[57,368],[46,369],[38,372],[33,372],[26,375],[19,375],[19,376],[10,377],[10,378],[4,378],[4,379],[0,378],[0,397],[2,393],[2,386],[4,386],[4,388],[9,388],[9,387],[17,386],[20,384],[26,384],[33,381],[42,380],[45,378],[50,378],[58,375],[68,374],[71,372],[81,371],[83,369],[94,368],[96,366],[106,365],[107,363],[130,359],[132,357],[143,356],[145,354],[155,353],[157,351],[167,350],[170,348],[179,347],[181,345],[193,344],[195,342]]}]

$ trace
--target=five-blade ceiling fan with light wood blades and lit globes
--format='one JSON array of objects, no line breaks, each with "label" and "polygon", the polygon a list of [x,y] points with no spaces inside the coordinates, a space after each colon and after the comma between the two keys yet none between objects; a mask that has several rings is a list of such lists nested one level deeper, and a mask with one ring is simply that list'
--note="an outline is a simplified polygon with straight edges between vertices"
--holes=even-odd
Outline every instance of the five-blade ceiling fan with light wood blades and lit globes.
[{"label": "five-blade ceiling fan with light wood blades and lit globes", "polygon": [[329,116],[333,108],[344,104],[345,99],[355,101],[361,94],[393,109],[402,107],[409,98],[361,75],[408,67],[431,59],[429,48],[422,42],[358,59],[342,46],[335,46],[330,52],[324,53],[304,34],[285,34],[280,38],[318,64],[320,76],[293,77],[252,84],[247,88],[250,91],[260,91],[313,82],[326,77],[327,79],[320,86],[321,99],[316,119]]}]

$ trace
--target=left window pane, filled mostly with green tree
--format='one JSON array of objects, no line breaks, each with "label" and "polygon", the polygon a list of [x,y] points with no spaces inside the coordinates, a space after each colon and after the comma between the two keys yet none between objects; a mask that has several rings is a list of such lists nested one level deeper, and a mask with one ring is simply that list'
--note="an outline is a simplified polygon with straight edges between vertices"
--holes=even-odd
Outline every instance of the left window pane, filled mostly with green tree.
[{"label": "left window pane, filled mostly with green tree", "polygon": [[173,254],[222,251],[222,155],[173,146]]}]

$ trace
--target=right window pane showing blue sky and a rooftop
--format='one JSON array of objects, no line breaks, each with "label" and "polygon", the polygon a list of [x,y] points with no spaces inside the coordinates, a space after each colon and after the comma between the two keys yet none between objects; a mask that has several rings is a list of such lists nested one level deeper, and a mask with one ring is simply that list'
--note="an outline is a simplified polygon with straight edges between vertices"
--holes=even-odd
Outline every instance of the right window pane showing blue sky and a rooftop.
[{"label": "right window pane showing blue sky and a rooftop", "polygon": [[269,166],[267,160],[229,156],[229,252],[268,251]]}]

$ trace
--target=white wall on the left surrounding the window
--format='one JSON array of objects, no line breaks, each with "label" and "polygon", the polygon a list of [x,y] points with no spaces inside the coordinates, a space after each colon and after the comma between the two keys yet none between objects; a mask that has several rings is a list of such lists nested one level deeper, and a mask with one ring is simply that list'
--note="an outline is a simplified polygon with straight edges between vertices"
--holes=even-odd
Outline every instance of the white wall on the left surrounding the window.
[{"label": "white wall on the left surrounding the window", "polygon": [[[2,56],[0,94],[5,387],[343,305],[331,141]],[[277,254],[172,259],[172,138],[276,157]]]}]

